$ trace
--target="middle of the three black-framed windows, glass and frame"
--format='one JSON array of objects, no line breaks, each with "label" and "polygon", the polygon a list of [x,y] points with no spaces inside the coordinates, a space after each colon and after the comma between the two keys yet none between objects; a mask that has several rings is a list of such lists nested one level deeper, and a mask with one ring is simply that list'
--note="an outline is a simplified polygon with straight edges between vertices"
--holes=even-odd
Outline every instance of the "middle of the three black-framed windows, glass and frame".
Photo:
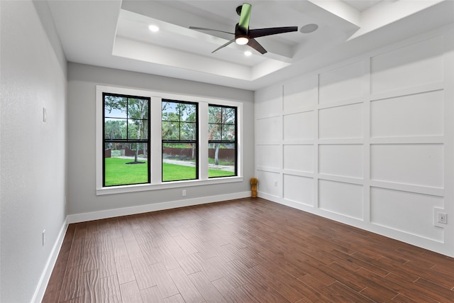
[{"label": "middle of the three black-framed windows, glass and frame", "polygon": [[162,181],[199,178],[197,104],[162,100]]}]

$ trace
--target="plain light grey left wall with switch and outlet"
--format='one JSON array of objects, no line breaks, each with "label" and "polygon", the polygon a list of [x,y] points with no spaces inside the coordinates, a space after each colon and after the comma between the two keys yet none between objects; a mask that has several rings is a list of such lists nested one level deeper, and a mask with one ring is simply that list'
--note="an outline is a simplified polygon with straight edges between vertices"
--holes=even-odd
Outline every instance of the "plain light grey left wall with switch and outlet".
[{"label": "plain light grey left wall with switch and outlet", "polygon": [[66,60],[47,2],[0,1],[0,11],[0,302],[31,302],[66,227]]}]

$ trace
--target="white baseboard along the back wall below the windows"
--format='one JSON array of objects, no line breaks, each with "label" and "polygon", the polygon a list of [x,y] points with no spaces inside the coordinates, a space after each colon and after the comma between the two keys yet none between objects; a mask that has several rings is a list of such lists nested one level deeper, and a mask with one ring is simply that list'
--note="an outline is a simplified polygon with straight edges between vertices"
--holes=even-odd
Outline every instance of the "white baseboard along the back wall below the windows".
[{"label": "white baseboard along the back wall below the windows", "polygon": [[218,196],[200,197],[194,199],[184,199],[170,202],[160,202],[154,204],[138,205],[123,207],[121,209],[106,209],[104,211],[93,211],[83,214],[70,214],[67,216],[68,224],[92,221],[116,216],[127,216],[130,214],[142,214],[149,211],[160,211],[164,209],[175,209],[177,207],[206,204],[211,202],[221,202],[232,199],[241,199],[250,197],[250,192],[235,192],[233,194],[220,194]]}]

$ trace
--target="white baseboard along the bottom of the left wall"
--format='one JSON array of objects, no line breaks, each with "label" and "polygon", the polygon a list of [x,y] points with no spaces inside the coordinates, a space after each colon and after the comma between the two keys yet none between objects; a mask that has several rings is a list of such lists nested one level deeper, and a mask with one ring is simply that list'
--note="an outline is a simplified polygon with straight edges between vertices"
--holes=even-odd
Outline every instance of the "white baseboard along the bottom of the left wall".
[{"label": "white baseboard along the bottom of the left wall", "polygon": [[48,282],[50,280],[50,275],[52,274],[52,270],[54,269],[58,254],[60,253],[60,248],[62,248],[63,239],[65,238],[66,230],[68,227],[67,221],[68,219],[65,219],[65,221],[63,222],[62,228],[60,228],[60,233],[58,233],[57,236],[57,241],[55,241],[55,244],[50,251],[48,262],[45,263],[40,281],[38,282],[38,286],[36,287],[35,293],[33,294],[33,299],[31,299],[32,303],[39,303],[43,301],[45,289],[46,287],[48,287]]}]

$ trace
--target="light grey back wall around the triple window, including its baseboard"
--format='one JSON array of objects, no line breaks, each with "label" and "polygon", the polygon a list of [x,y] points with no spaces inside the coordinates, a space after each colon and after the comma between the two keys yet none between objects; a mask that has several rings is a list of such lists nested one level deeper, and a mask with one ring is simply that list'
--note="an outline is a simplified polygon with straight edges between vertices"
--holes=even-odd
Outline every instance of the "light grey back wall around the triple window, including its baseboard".
[{"label": "light grey back wall around the triple window, including its baseboard", "polygon": [[[230,99],[243,103],[243,182],[185,187],[186,197],[182,197],[181,188],[96,196],[96,85]],[[250,196],[249,180],[254,175],[254,121],[250,119],[254,115],[253,99],[253,92],[241,89],[69,63],[69,221],[85,221]]]}]

